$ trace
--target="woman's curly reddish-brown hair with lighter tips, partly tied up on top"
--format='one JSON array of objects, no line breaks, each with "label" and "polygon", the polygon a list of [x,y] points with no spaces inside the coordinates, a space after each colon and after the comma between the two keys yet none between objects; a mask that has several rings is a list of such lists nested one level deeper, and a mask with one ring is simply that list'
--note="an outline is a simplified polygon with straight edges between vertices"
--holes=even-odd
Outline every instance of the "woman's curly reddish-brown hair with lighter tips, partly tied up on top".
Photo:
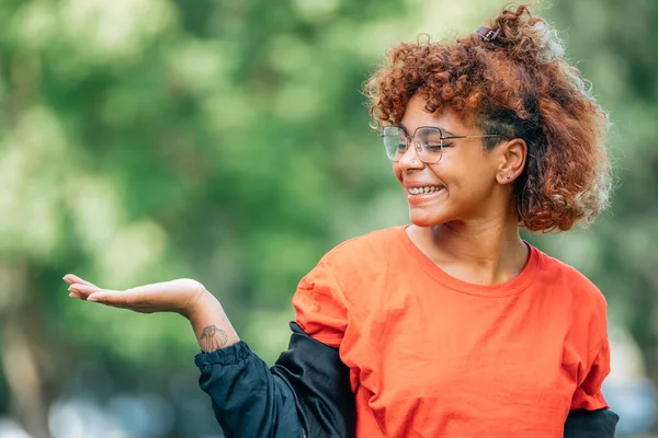
[{"label": "woman's curly reddish-brown hair with lighter tips, partly tied up on top", "polygon": [[[520,226],[565,231],[608,206],[608,117],[580,71],[563,57],[556,32],[527,5],[503,10],[489,27],[452,44],[401,43],[365,84],[376,127],[397,124],[416,93],[430,113],[450,107],[487,134],[527,143],[514,182]],[[499,138],[485,140],[491,149]]]}]

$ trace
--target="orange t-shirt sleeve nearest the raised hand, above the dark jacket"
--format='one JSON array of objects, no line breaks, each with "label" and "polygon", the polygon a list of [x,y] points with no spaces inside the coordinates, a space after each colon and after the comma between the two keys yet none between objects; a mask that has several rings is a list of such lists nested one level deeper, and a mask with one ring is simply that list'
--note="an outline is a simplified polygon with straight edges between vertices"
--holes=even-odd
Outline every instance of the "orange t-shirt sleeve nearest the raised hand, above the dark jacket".
[{"label": "orange t-shirt sleeve nearest the raised hand, above the dark jacket", "polygon": [[348,310],[336,268],[327,256],[308,273],[293,297],[297,324],[313,338],[340,347],[348,324]]}]

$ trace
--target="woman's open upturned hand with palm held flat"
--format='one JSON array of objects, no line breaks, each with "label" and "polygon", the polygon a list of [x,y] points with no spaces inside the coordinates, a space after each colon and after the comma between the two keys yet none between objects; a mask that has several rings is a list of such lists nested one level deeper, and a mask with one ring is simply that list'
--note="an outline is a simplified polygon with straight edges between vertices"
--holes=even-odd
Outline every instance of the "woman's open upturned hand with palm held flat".
[{"label": "woman's open upturned hand with palm held flat", "polygon": [[72,274],[64,276],[70,286],[69,297],[100,302],[135,312],[177,312],[189,318],[194,304],[207,292],[205,287],[193,279],[180,278],[156,283],[126,290],[101,289]]}]

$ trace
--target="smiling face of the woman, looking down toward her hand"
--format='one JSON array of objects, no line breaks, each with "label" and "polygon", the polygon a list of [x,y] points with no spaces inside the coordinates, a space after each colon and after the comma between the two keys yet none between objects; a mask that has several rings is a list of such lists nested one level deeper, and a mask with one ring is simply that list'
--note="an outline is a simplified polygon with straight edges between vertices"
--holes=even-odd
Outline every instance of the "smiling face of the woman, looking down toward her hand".
[{"label": "smiling face of the woman, looking down toward her hand", "polygon": [[[485,132],[465,124],[450,110],[440,115],[424,111],[426,101],[418,94],[407,105],[400,126],[412,135],[420,126],[440,127],[445,136],[479,136]],[[501,158],[494,151],[485,151],[483,138],[446,140],[443,155],[438,163],[423,163],[410,146],[400,161],[393,163],[409,203],[411,221],[419,227],[431,227],[452,221],[487,219],[500,209],[500,197],[495,193],[499,186],[497,173]],[[498,175],[500,176],[500,175]],[[418,187],[432,192],[416,194]],[[496,200],[496,198],[499,198]]]}]

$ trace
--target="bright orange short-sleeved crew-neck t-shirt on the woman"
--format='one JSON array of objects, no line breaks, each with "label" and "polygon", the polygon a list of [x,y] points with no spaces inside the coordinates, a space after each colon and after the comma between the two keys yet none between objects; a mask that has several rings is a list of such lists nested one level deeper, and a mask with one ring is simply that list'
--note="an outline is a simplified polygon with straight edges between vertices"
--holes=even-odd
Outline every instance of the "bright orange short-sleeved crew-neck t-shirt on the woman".
[{"label": "bright orange short-sleeved crew-neck t-shirt on the woman", "polygon": [[515,278],[481,286],[406,227],[375,231],[325,255],[293,304],[350,367],[359,438],[563,438],[569,410],[609,407],[605,300],[535,247]]}]

